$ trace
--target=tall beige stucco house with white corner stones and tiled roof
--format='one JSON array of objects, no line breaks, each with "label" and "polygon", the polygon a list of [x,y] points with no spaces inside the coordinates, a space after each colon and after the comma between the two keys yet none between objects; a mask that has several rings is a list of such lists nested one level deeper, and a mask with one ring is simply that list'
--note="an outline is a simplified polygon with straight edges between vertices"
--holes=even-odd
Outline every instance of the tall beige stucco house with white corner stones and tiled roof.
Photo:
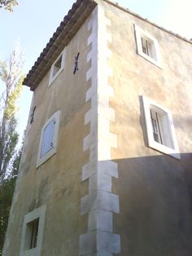
[{"label": "tall beige stucco house with white corner stones and tiled roof", "polygon": [[192,44],[77,0],[33,90],[4,256],[192,255]]}]

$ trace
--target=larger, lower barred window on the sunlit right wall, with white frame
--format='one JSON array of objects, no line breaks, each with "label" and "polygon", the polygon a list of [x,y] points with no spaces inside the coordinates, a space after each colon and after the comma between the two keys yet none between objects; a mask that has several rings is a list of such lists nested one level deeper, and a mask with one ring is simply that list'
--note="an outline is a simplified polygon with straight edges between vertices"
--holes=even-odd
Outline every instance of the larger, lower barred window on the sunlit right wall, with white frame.
[{"label": "larger, lower barred window on the sunlit right wall, with white frame", "polygon": [[180,159],[172,113],[143,96],[142,102],[149,147]]}]

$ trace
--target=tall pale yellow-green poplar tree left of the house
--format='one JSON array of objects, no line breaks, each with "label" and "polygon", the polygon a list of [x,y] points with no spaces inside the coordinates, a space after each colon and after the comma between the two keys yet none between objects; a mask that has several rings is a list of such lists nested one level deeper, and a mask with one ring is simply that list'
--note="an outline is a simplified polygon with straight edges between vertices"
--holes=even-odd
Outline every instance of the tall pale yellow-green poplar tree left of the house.
[{"label": "tall pale yellow-green poplar tree left of the house", "polygon": [[20,96],[24,79],[21,73],[22,66],[23,55],[17,46],[12,51],[9,61],[0,62],[0,78],[4,84],[0,98],[0,180],[7,177],[19,139],[15,130],[17,125],[15,113],[18,110],[16,100]]}]

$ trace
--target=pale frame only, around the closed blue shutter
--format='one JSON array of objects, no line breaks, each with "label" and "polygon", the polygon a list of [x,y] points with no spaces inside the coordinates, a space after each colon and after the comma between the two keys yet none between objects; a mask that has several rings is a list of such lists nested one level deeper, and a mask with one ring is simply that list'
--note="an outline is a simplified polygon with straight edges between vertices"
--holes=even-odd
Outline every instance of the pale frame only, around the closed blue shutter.
[{"label": "pale frame only, around the closed blue shutter", "polygon": [[[54,113],[46,121],[44,126],[42,126],[36,167],[41,166],[45,161],[47,161],[50,157],[52,157],[57,150],[57,139],[58,139],[58,133],[59,133],[59,118],[60,118],[60,110],[57,111],[56,113]],[[41,157],[41,148],[42,148],[42,143],[43,143],[43,138],[44,138],[44,130],[45,130],[46,126],[48,126],[50,124],[50,122],[53,120],[55,120],[55,130],[53,133],[52,148],[48,152],[46,152],[46,154],[44,156]]]}]

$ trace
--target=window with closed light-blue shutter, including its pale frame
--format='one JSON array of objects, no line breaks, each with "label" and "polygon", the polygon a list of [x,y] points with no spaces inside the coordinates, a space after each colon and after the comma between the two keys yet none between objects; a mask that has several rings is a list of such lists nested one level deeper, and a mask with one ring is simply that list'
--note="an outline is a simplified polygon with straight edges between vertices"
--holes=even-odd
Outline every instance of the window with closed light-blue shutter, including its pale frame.
[{"label": "window with closed light-blue shutter, including its pale frame", "polygon": [[57,111],[42,127],[37,156],[37,167],[41,166],[42,163],[52,157],[56,152],[57,136],[59,131],[59,116],[60,111]]}]

